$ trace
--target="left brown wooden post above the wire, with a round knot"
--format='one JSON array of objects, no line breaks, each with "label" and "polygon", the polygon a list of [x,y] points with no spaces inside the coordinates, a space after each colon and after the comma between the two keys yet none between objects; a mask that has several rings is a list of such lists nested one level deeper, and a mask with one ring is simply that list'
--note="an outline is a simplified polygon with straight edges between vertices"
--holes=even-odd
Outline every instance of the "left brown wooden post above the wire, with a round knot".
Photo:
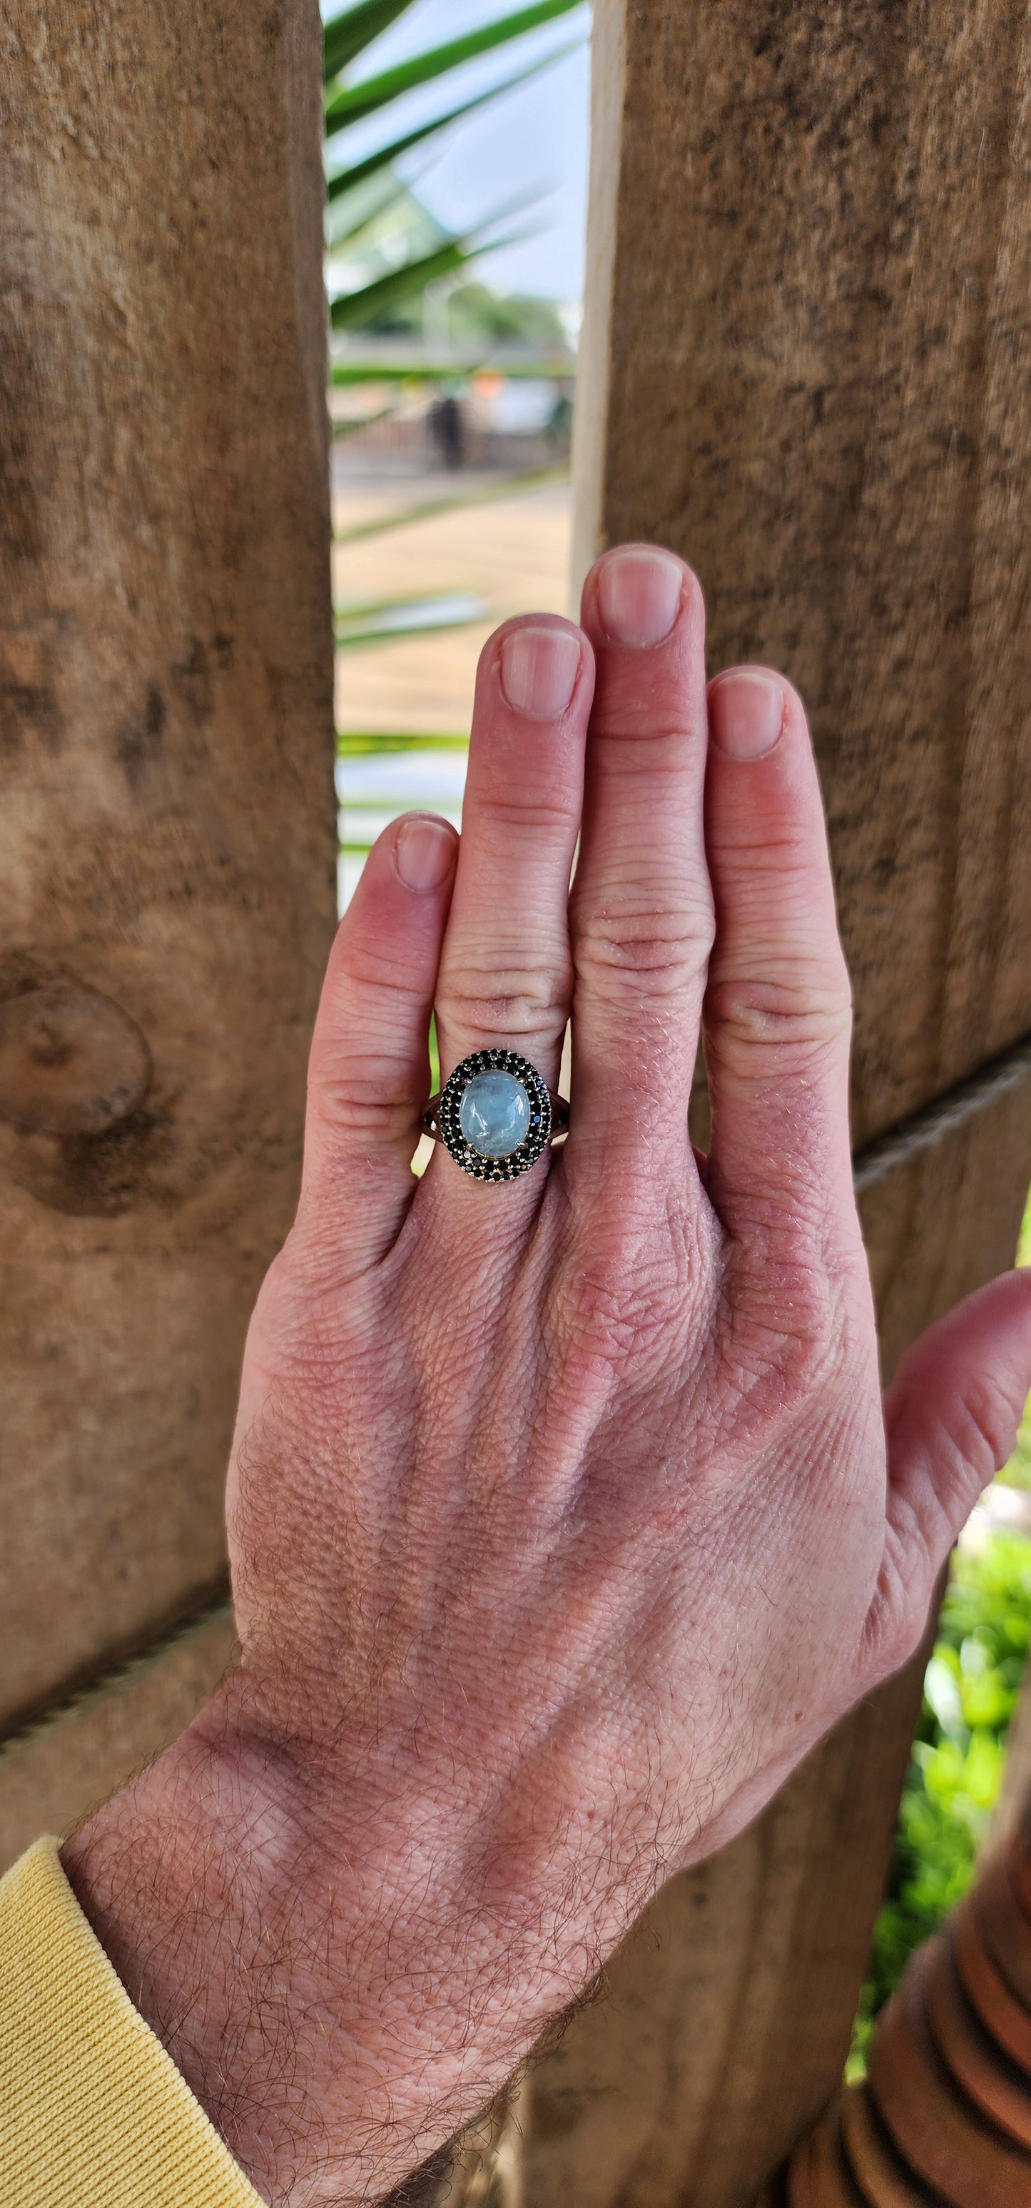
[{"label": "left brown wooden post above the wire, with a round knot", "polygon": [[336,828],[316,0],[0,49],[11,1724],[223,1572]]}]

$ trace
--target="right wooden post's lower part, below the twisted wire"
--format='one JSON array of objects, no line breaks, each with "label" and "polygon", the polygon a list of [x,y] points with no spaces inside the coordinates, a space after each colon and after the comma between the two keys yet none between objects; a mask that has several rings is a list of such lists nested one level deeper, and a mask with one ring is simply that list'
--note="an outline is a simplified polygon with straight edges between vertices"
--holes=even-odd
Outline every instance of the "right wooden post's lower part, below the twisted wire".
[{"label": "right wooden post's lower part, below the twisted wire", "polygon": [[[861,1192],[887,1362],[1013,1259],[1031,1066]],[[530,2208],[746,2208],[848,2051],[923,1656],[722,1855],[671,1881],[532,2078]]]}]

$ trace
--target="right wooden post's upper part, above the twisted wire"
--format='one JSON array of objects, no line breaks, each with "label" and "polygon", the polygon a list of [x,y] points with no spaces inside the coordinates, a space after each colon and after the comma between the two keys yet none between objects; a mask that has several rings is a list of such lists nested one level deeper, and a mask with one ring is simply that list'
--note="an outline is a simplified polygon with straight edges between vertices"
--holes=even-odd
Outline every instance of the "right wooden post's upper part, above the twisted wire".
[{"label": "right wooden post's upper part, above the twisted wire", "polygon": [[1031,1031],[1029,18],[596,20],[581,563],[673,545],[808,702],[868,1142]]}]

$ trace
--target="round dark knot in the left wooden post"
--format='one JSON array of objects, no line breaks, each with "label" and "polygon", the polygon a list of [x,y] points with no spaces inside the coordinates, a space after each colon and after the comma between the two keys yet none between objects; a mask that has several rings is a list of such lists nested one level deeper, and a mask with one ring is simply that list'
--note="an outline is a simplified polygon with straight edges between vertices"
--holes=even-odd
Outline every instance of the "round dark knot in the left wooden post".
[{"label": "round dark knot in the left wooden post", "polygon": [[99,989],[53,983],[0,1002],[0,1119],[35,1135],[106,1135],[139,1111],[150,1051]]}]

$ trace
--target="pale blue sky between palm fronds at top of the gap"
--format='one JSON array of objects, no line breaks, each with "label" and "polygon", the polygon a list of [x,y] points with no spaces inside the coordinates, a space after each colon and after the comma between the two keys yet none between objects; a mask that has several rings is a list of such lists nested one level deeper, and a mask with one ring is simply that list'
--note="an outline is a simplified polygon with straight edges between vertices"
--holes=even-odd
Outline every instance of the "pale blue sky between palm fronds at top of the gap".
[{"label": "pale blue sky between palm fronds at top of the gap", "polygon": [[[395,62],[439,46],[464,31],[514,11],[517,0],[415,0],[362,55],[355,77],[378,75]],[[325,7],[322,13],[336,13]],[[459,106],[488,84],[501,84],[543,53],[576,44],[530,84],[490,102],[479,115],[455,124],[433,148],[417,148],[400,170],[431,214],[448,230],[470,230],[499,208],[528,194],[534,205],[506,230],[532,230],[523,243],[483,256],[477,274],[499,291],[536,291],[574,305],[583,291],[583,232],[587,208],[587,7],[532,31],[510,49],[483,55],[426,91],[408,93],[384,117],[349,130],[349,159]]]}]

